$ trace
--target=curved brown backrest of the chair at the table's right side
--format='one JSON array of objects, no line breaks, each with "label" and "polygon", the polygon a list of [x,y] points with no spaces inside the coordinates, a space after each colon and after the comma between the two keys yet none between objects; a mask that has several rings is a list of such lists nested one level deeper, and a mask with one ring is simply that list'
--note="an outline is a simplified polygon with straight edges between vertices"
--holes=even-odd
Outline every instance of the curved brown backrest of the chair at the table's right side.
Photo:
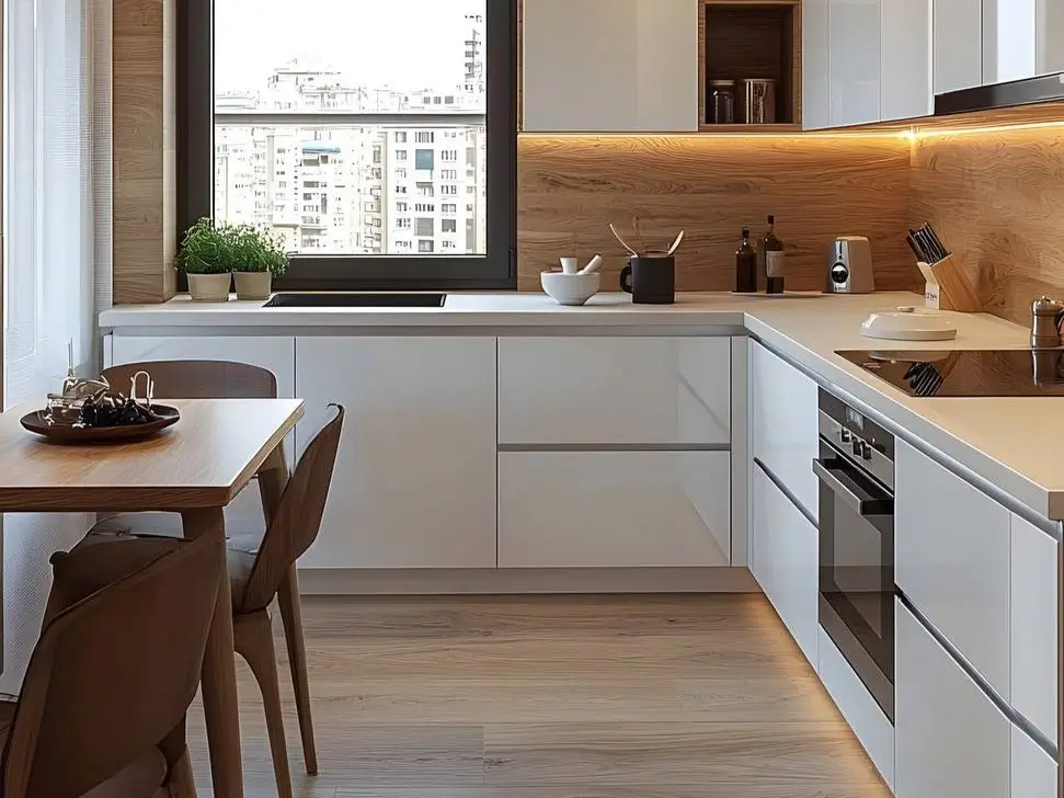
[{"label": "curved brown backrest of the chair at the table's right side", "polygon": [[330,404],[329,409],[330,414],[296,464],[266,527],[238,612],[267,607],[289,566],[318,537],[344,423],[343,407]]}]

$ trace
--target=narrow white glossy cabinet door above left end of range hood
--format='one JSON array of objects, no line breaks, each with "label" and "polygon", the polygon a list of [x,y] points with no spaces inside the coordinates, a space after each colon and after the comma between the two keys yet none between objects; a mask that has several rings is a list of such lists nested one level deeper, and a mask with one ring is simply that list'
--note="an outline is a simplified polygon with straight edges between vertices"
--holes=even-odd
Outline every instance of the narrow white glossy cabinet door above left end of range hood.
[{"label": "narrow white glossy cabinet door above left end of range hood", "polygon": [[983,0],[933,0],[936,94],[983,82]]}]

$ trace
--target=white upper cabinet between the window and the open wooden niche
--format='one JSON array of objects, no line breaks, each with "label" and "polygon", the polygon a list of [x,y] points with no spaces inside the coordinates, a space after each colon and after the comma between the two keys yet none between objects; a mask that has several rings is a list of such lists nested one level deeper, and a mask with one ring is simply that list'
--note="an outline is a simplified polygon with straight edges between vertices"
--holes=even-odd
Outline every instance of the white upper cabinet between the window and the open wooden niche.
[{"label": "white upper cabinet between the window and the open wooden niche", "polygon": [[698,129],[697,0],[525,0],[526,132]]}]

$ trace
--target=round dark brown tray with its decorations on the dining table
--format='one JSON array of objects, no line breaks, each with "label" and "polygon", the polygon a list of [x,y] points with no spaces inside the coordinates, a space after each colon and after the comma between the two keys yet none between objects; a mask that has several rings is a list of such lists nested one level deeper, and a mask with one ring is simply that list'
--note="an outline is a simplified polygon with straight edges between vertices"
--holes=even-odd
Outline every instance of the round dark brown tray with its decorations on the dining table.
[{"label": "round dark brown tray with its decorations on the dining table", "polygon": [[[137,396],[144,376],[144,397]],[[153,435],[178,423],[176,408],[152,402],[153,385],[147,372],[130,380],[129,396],[112,390],[107,380],[67,375],[60,394],[49,394],[43,410],[20,419],[23,429],[57,443],[110,443]]]}]

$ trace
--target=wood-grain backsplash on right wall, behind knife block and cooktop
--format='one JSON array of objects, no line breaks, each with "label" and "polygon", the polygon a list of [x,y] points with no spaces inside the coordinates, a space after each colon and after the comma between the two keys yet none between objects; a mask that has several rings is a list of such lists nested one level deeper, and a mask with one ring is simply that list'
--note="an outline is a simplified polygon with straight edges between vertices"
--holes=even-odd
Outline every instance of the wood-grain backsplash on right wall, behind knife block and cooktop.
[{"label": "wood-grain backsplash on right wall, behind knife block and cooktop", "polygon": [[912,223],[931,221],[987,312],[1030,324],[1064,294],[1064,127],[933,135],[913,144]]}]

